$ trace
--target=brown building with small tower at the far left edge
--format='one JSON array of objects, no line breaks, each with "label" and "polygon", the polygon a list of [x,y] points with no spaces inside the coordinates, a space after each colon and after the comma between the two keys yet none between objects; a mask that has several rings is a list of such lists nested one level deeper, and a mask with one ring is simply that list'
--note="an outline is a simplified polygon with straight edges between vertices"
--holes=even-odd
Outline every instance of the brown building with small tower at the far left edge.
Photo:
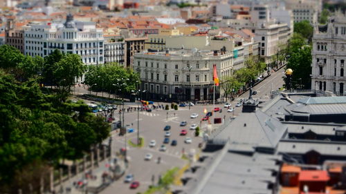
[{"label": "brown building with small tower at the far left edge", "polygon": [[24,53],[24,30],[16,28],[15,19],[8,18],[5,29],[5,42]]}]

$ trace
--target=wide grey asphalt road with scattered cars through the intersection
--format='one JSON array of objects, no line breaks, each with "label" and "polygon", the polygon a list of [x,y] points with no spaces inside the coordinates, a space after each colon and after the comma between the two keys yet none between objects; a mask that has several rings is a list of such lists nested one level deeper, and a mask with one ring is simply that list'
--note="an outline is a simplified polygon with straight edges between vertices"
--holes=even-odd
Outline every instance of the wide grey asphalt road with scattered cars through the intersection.
[{"label": "wide grey asphalt road with scattered cars through the intersection", "polygon": [[[270,96],[271,90],[277,90],[283,84],[282,74],[283,70],[278,70],[273,72],[270,77],[264,79],[260,84],[257,84],[253,90],[257,91],[257,95],[254,95],[254,98],[266,98]],[[234,107],[237,103],[237,100],[241,98],[247,98],[248,92],[237,97],[237,99],[232,103]],[[159,103],[161,104],[161,103]],[[156,104],[157,105],[157,104]],[[131,106],[131,105],[128,105]],[[136,106],[132,104],[132,106]],[[241,111],[242,107],[235,108],[234,113],[227,113],[224,104],[218,104],[215,107],[221,108],[222,113],[215,113],[215,117],[221,117],[228,119],[229,117],[237,116]],[[127,108],[127,106],[125,106]],[[181,156],[183,153],[197,153],[199,152],[198,144],[203,142],[202,137],[195,137],[194,130],[190,130],[192,124],[197,124],[201,127],[201,131],[206,130],[208,122],[201,122],[201,118],[205,115],[205,109],[211,111],[213,108],[212,104],[207,105],[197,105],[192,106],[191,110],[188,107],[179,107],[179,110],[153,110],[152,113],[140,112],[139,115],[139,129],[140,137],[144,138],[145,146],[143,148],[133,148],[127,146],[127,155],[129,157],[129,168],[127,169],[126,174],[134,174],[134,180],[140,182],[140,186],[134,190],[129,189],[129,184],[123,182],[124,178],[111,184],[107,187],[103,194],[111,193],[123,193],[123,194],[135,194],[138,192],[144,192],[147,190],[148,186],[152,184],[152,177],[154,176],[154,182],[158,181],[159,175],[162,175],[168,169],[177,166],[181,168],[188,163],[186,159],[182,159]],[[196,119],[191,119],[190,115],[192,113],[197,113],[199,116]],[[118,118],[116,118],[118,119]],[[188,122],[187,126],[179,126],[180,122]],[[126,139],[136,139],[137,137],[137,122],[138,122],[138,113],[136,111],[125,113],[125,125],[128,124],[131,128],[135,128],[134,133],[128,133]],[[165,131],[163,128],[166,125],[170,125],[172,128],[170,130],[170,142],[172,139],[176,139],[178,144],[176,146],[171,146],[166,144],[167,151],[159,151],[159,147],[163,144],[163,139]],[[181,136],[179,135],[181,129],[188,130],[188,135]],[[117,132],[112,132],[113,144],[112,150],[119,151],[120,148],[125,147],[125,137],[119,136]],[[185,144],[185,137],[192,138],[192,144]],[[154,139],[156,140],[156,146],[154,148],[149,148],[149,142]],[[147,153],[152,153],[153,158],[150,161],[145,161],[144,157]],[[161,157],[161,163],[157,164],[158,157]]]}]

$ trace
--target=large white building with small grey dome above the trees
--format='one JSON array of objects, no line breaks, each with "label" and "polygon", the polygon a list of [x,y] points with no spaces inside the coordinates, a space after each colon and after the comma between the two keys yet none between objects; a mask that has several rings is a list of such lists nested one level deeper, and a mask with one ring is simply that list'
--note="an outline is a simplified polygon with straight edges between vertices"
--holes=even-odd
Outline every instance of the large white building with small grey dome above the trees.
[{"label": "large white building with small grey dome above the trees", "polygon": [[46,57],[55,49],[80,55],[84,64],[104,63],[104,37],[93,22],[74,21],[71,14],[65,23],[30,22],[24,26],[24,54]]}]

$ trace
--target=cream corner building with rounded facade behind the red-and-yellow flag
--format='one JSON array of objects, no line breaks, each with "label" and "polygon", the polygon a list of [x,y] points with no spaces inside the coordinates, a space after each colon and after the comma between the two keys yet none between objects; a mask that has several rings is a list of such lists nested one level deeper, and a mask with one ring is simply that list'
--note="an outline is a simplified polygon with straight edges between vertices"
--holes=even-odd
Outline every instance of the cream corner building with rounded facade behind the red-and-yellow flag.
[{"label": "cream corner building with rounded facade behind the red-and-yellow flag", "polygon": [[[162,100],[212,100],[213,65],[219,79],[232,75],[244,67],[243,46],[235,51],[220,50],[166,50],[165,52],[140,52],[134,57],[134,70],[140,75],[143,98]],[[222,90],[215,90],[216,99]]]}]

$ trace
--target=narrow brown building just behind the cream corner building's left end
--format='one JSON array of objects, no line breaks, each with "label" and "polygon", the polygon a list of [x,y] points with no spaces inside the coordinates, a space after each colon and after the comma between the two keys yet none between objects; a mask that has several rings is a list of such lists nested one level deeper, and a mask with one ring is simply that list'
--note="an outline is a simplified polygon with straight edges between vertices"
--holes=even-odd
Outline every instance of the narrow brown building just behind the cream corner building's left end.
[{"label": "narrow brown building just behind the cream corner building's left end", "polygon": [[125,66],[133,65],[134,54],[144,50],[144,44],[147,37],[134,37],[125,39]]}]

